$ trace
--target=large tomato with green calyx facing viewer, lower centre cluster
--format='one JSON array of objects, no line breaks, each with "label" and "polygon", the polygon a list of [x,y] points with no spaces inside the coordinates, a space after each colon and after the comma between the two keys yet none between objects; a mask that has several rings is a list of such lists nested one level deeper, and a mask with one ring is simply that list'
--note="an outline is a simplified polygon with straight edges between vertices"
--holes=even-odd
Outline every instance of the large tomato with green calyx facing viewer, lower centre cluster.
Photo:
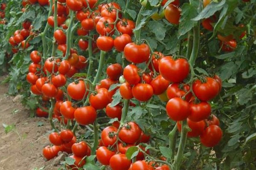
[{"label": "large tomato with green calyx facing viewer, lower centre cluster", "polygon": [[134,144],[140,139],[141,129],[135,122],[129,122],[119,132],[119,138],[128,144]]}]

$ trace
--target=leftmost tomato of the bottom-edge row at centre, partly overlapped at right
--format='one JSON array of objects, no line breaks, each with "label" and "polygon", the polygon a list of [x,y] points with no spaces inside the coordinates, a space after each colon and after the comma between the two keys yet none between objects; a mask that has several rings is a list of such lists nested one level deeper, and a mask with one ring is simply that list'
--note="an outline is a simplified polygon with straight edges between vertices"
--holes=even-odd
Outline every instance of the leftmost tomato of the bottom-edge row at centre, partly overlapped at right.
[{"label": "leftmost tomato of the bottom-edge row at centre, partly overlapped at right", "polygon": [[105,146],[101,146],[96,150],[96,158],[103,165],[109,165],[109,161],[113,155],[115,155],[115,152],[108,150]]}]

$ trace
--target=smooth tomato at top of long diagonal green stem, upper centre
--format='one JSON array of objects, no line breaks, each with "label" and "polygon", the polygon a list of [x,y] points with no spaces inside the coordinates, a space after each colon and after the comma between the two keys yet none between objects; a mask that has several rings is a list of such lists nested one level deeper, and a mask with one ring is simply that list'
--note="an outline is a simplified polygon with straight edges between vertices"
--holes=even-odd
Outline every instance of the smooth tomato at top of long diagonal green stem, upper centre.
[{"label": "smooth tomato at top of long diagonal green stem, upper centre", "polygon": [[102,51],[110,51],[114,46],[114,39],[112,37],[100,36],[97,41],[97,47]]}]

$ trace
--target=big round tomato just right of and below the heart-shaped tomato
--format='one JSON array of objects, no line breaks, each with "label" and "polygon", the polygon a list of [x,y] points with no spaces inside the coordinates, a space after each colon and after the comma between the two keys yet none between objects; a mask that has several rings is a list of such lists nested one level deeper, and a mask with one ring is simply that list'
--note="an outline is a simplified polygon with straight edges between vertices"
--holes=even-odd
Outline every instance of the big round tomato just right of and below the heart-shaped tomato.
[{"label": "big round tomato just right of and below the heart-shaped tomato", "polygon": [[193,82],[193,91],[195,96],[201,101],[209,101],[215,98],[219,93],[219,84],[215,79],[207,77],[206,82],[196,80]]}]

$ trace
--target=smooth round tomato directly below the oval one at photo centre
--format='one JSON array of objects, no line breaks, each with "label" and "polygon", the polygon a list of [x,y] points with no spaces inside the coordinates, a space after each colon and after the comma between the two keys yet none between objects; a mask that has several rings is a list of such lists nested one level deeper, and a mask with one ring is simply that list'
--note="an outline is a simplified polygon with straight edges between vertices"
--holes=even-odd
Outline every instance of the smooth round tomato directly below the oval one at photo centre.
[{"label": "smooth round tomato directly below the oval one at photo centre", "polygon": [[131,89],[132,95],[135,99],[146,102],[153,96],[153,88],[149,84],[138,83]]}]

